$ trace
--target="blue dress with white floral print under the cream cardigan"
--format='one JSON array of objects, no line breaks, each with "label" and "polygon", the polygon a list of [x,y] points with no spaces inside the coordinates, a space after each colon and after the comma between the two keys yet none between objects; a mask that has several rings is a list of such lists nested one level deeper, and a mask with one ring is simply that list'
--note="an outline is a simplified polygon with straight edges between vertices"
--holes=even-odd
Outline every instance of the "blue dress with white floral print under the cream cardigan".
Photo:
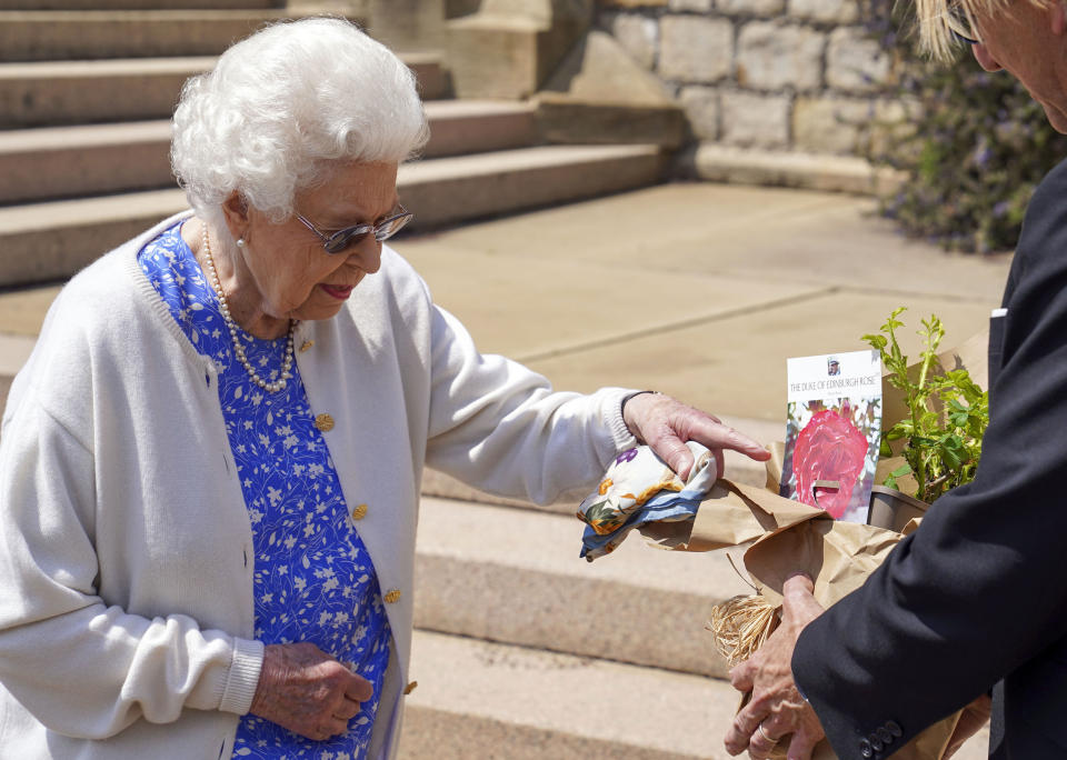
[{"label": "blue dress with white floral print under the cream cardigan", "polygon": [[[252,382],[233,357],[218,298],[180,229],[179,222],[146,244],[138,261],[192,344],[219,368],[219,400],[252,522],[256,638],[267,644],[315,643],[353,663],[375,688],[348,733],[327,741],[305,739],[247,714],[237,730],[233,757],[365,758],[389,663],[389,622],[373,563],[315,427],[298,367],[278,392]],[[275,380],[286,338],[238,334],[259,377]]]}]

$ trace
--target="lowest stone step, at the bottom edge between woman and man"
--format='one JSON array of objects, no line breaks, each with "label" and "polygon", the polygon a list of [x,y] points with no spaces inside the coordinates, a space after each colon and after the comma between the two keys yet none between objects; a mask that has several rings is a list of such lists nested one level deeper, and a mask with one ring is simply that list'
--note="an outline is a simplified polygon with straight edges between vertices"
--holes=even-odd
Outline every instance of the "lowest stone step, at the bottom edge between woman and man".
[{"label": "lowest stone step, at the bottom edge between woman and man", "polygon": [[738,703],[725,681],[419,630],[411,678],[410,760],[726,760]]}]

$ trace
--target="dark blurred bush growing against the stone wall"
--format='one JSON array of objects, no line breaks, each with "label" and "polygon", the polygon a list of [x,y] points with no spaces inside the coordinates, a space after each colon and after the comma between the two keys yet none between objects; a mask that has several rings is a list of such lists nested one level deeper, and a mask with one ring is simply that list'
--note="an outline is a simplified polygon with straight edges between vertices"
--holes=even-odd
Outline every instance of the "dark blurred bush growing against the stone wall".
[{"label": "dark blurred bush growing against the stone wall", "polygon": [[[897,92],[909,104],[869,158],[900,170],[905,182],[880,199],[903,230],[947,250],[1010,250],[1041,178],[1067,157],[1043,108],[1007,72],[988,73],[969,46],[953,64],[915,51],[910,3],[866,0],[869,31],[897,61]],[[877,142],[877,141],[876,141]]]}]

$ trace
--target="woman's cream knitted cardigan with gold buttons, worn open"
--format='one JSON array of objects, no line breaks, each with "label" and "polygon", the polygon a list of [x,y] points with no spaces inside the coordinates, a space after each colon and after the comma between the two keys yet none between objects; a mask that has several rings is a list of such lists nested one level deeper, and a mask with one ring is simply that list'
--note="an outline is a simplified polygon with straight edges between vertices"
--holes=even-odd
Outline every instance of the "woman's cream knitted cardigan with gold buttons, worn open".
[{"label": "woman's cream knitted cardigan with gold buttons, worn open", "polygon": [[[187,212],[188,213],[188,212]],[[0,442],[0,758],[228,760],[262,663],[252,532],[216,368],[137,264],[168,219],[63,289],[16,378]],[[476,276],[476,273],[472,273]],[[392,757],[408,679],[425,464],[550,501],[634,444],[621,389],[554,393],[480,354],[389,249],[297,354],[377,568],[393,657],[372,758]]]}]

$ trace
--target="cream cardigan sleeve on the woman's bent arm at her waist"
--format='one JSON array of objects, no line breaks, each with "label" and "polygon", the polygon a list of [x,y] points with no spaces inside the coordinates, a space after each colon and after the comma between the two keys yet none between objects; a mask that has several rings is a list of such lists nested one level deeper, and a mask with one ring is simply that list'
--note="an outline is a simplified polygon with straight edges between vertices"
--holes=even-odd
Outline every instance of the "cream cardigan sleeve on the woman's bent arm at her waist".
[{"label": "cream cardigan sleeve on the woman's bent arm at her waist", "polygon": [[27,390],[0,441],[0,681],[76,738],[183,708],[247,712],[262,644],[98,596],[93,483],[90,447]]}]

